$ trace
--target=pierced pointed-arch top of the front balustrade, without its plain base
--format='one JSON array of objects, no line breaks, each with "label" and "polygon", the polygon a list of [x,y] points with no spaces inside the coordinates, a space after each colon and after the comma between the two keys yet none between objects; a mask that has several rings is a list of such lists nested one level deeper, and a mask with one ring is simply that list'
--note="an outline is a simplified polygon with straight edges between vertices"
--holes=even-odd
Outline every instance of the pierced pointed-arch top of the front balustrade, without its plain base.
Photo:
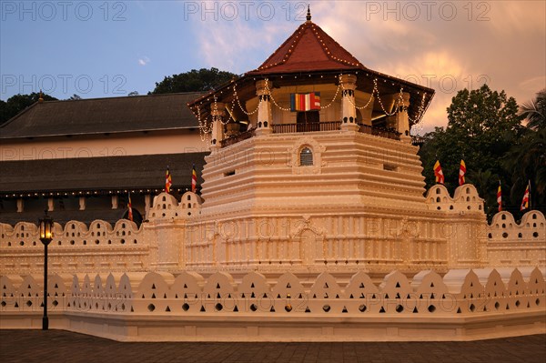
[{"label": "pierced pointed-arch top of the front balustrade, without its plain base", "polygon": [[[409,279],[399,271],[385,276],[379,285],[363,271],[342,286],[328,272],[310,287],[287,272],[274,285],[257,272],[236,282],[227,272],[204,278],[182,271],[175,278],[167,272],[53,275],[49,301],[53,310],[125,312],[145,315],[206,315],[218,312],[278,316],[348,314],[420,314],[426,317],[472,313],[526,311],[546,306],[546,283],[535,267],[454,269],[444,277],[421,271]],[[43,287],[33,276],[0,277],[0,312],[41,311]],[[365,314],[363,314],[365,313]],[[431,315],[431,313],[434,313]],[[380,316],[380,315],[379,315]],[[415,315],[414,315],[415,316]]]}]

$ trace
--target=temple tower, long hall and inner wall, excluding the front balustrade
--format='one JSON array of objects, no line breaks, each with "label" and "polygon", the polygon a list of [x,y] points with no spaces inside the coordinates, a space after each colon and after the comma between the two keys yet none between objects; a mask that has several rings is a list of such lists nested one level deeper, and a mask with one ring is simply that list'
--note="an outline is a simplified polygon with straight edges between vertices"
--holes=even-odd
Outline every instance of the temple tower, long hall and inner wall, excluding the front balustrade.
[{"label": "temple tower, long hall and inner wall, excluding the front balustrade", "polygon": [[[489,226],[475,187],[425,190],[410,129],[432,96],[363,66],[308,14],[207,94],[39,102],[2,127],[0,272],[40,270],[45,207],[58,272],[544,265],[539,211]],[[167,166],[175,193],[162,193]]]}]

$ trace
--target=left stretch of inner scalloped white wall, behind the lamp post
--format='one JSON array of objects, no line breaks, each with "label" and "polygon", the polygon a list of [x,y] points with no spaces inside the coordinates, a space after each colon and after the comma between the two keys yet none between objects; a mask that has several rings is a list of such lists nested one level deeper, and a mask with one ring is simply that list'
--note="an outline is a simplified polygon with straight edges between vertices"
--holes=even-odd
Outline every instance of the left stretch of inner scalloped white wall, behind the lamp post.
[{"label": "left stretch of inner scalloped white wall, behind the lamp post", "polygon": [[[44,269],[44,246],[37,226],[20,222],[0,224],[0,273],[40,273]],[[96,220],[90,227],[70,221],[56,224],[48,247],[50,271],[57,273],[143,271],[149,268],[150,243],[145,228],[128,220],[115,226]]]}]

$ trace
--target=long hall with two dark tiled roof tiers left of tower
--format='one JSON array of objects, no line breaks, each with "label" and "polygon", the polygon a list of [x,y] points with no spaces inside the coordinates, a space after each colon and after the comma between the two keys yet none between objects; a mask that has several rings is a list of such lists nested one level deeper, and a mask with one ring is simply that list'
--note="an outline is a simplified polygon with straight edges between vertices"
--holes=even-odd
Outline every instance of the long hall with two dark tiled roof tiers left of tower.
[{"label": "long hall with two dark tiled roof tiers left of tower", "polygon": [[[190,188],[207,154],[187,102],[198,93],[45,101],[0,126],[0,221],[57,222],[127,217],[138,225],[152,197]],[[181,194],[180,194],[181,195]]]}]

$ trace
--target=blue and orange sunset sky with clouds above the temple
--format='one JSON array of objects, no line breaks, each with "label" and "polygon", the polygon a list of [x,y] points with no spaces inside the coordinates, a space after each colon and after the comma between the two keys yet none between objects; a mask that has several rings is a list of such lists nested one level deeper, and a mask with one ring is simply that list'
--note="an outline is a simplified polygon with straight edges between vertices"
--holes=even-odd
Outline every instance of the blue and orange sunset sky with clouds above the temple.
[{"label": "blue and orange sunset sky with clouds above the temple", "polygon": [[[371,69],[436,89],[421,133],[483,83],[521,103],[546,87],[544,1],[311,1],[313,22]],[[0,2],[0,99],[144,95],[164,76],[259,66],[307,2]]]}]

